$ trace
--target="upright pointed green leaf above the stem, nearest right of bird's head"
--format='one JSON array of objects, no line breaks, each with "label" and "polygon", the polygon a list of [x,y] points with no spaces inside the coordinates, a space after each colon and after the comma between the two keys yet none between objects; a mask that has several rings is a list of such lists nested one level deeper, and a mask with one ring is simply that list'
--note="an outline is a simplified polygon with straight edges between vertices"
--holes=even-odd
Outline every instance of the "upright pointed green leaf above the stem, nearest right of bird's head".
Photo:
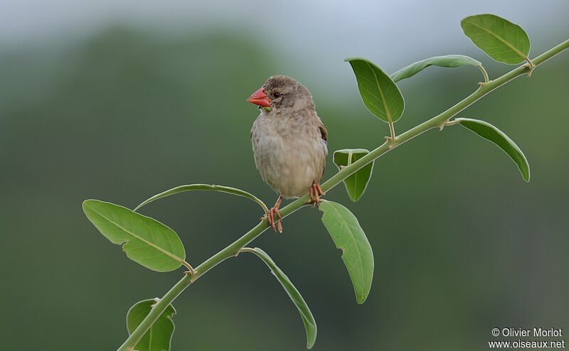
[{"label": "upright pointed green leaf above the stem, nearest right of bird's head", "polygon": [[381,68],[365,58],[346,58],[356,75],[358,90],[369,112],[382,121],[397,121],[405,109],[399,88]]}]

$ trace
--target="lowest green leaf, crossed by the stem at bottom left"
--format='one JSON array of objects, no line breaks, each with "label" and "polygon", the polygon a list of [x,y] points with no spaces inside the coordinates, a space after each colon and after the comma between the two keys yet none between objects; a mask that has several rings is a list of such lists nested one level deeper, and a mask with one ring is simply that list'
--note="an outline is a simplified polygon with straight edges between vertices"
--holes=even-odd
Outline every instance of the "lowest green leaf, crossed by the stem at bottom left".
[{"label": "lowest green leaf, crossed by the stem at bottom left", "polygon": [[[142,320],[150,313],[152,306],[159,301],[159,298],[150,298],[134,304],[127,313],[127,329],[129,335],[142,323]],[[134,350],[137,351],[169,351],[172,334],[174,334],[174,322],[172,316],[176,310],[172,305],[168,305],[166,310],[147,330]]]}]

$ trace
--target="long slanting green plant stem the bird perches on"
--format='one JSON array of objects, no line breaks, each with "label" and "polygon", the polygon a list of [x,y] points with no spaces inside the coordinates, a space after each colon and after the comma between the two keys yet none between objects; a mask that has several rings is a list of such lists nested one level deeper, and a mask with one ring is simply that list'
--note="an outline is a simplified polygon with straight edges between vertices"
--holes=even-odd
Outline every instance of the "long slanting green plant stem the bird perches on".
[{"label": "long slanting green plant stem the bird perches on", "polygon": [[[538,65],[541,65],[541,63],[545,62],[546,60],[553,58],[553,56],[557,55],[558,53],[562,52],[567,48],[569,48],[569,39],[555,46],[555,48],[552,48],[551,50],[546,51],[546,53],[543,53],[539,55],[537,58],[533,59],[532,62],[534,68],[537,67]],[[428,121],[425,121],[422,124],[415,126],[413,129],[409,129],[408,131],[405,131],[405,133],[400,134],[398,136],[398,142],[396,144],[392,144],[386,141],[381,146],[368,153],[366,156],[363,156],[362,158],[358,159],[358,161],[352,163],[350,166],[342,168],[329,180],[326,180],[326,183],[321,185],[322,190],[324,192],[327,192],[331,188],[334,188],[344,179],[348,178],[349,175],[355,173],[360,168],[363,168],[363,166],[366,166],[368,163],[371,163],[373,160],[375,160],[379,156],[382,156],[384,153],[393,150],[393,148],[399,146],[400,144],[405,143],[405,141],[413,139],[415,136],[418,136],[419,134],[422,134],[429,129],[439,127],[441,124],[444,124],[445,121],[448,121],[450,118],[452,118],[455,114],[461,112],[463,109],[466,109],[467,107],[469,107],[470,104],[473,104],[478,99],[488,94],[492,90],[496,89],[497,87],[500,87],[501,85],[506,84],[506,82],[513,80],[515,77],[531,72],[531,70],[533,70],[533,68],[529,68],[528,65],[522,65],[519,66],[518,68],[514,68],[514,70],[511,70],[510,72],[507,72],[505,75],[502,75],[496,80],[491,80],[487,84],[482,85],[481,87],[478,88],[477,91],[473,92],[471,95],[464,98],[461,102],[455,104],[450,109],[447,109],[445,112],[442,112],[441,114],[432,117]],[[392,136],[394,136],[393,133]],[[280,210],[282,217],[283,218],[287,217],[292,212],[298,210],[300,207],[308,205],[307,203],[308,199],[309,195],[307,194],[304,195],[302,198],[294,200],[294,202],[291,202],[289,205],[283,207],[282,210]],[[142,336],[144,336],[144,333],[146,333],[147,330],[149,330],[151,325],[154,324],[154,322],[159,318],[159,316],[166,310],[166,307],[168,307],[168,305],[172,301],[174,301],[174,299],[177,296],[179,296],[179,294],[182,291],[184,291],[185,288],[187,288],[190,284],[193,283],[193,281],[196,281],[196,279],[198,279],[200,276],[202,276],[207,271],[212,269],[214,266],[220,264],[221,261],[224,261],[229,257],[237,256],[240,252],[240,249],[243,249],[245,245],[252,242],[253,239],[258,237],[262,232],[265,232],[265,230],[267,230],[268,228],[270,228],[270,226],[267,223],[267,220],[266,219],[262,220],[258,225],[256,225],[255,227],[250,229],[249,232],[243,235],[243,237],[240,237],[239,239],[235,240],[235,242],[228,245],[228,247],[225,247],[225,249],[221,250],[220,252],[213,255],[212,257],[204,261],[202,264],[197,266],[196,269],[194,269],[193,274],[191,275],[186,274],[184,278],[182,278],[178,283],[176,283],[176,285],[174,285],[174,287],[172,287],[170,291],[168,291],[166,295],[164,295],[164,297],[161,298],[158,303],[152,306],[150,313],[147,315],[147,317],[144,318],[144,320],[142,320],[142,323],[140,323],[140,325],[134,330],[134,332],[132,332],[132,334],[129,335],[129,338],[126,341],[124,341],[124,343],[122,344],[121,347],[119,347],[118,350],[119,351],[134,350],[134,347],[137,345],[137,342],[139,342]]]}]

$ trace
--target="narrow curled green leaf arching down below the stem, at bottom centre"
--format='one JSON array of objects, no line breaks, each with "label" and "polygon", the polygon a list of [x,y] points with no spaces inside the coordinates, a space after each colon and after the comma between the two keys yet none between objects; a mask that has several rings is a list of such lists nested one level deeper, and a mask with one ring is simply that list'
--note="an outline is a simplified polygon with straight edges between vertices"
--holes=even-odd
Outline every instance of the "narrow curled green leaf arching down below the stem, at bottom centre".
[{"label": "narrow curled green leaf arching down below the stem, at bottom centre", "polygon": [[290,299],[294,305],[297,306],[300,317],[302,317],[302,323],[304,323],[304,328],[307,330],[307,348],[312,348],[314,341],[316,341],[316,321],[314,320],[312,312],[310,312],[307,303],[304,301],[304,298],[302,298],[297,288],[292,285],[292,282],[287,277],[287,275],[283,273],[279,267],[277,267],[275,262],[272,261],[269,255],[267,255],[266,252],[262,251],[262,249],[259,249],[258,247],[255,247],[255,249],[250,249],[247,247],[245,249],[242,249],[242,251],[251,252],[262,259],[262,261],[264,261],[265,264],[269,266],[272,274],[277,277],[282,287],[285,288],[285,291],[287,291]]}]

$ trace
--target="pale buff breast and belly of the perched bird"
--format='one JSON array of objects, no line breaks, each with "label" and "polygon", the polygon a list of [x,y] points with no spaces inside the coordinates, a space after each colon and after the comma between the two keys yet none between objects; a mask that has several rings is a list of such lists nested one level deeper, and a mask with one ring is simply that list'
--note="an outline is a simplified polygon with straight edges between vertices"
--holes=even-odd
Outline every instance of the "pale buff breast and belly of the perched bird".
[{"label": "pale buff breast and belly of the perched bird", "polygon": [[299,138],[253,131],[251,139],[255,166],[263,180],[283,197],[298,198],[320,182],[328,152],[326,142],[316,132]]}]

